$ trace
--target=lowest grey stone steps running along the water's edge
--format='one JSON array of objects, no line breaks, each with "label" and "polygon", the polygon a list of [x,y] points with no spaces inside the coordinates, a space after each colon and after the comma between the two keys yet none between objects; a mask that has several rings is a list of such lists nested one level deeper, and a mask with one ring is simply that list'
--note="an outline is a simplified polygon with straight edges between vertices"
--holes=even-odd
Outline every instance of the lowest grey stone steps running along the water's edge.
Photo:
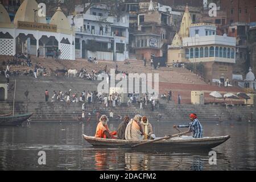
[{"label": "lowest grey stone steps running along the water's edge", "polygon": [[[15,113],[34,113],[31,117],[32,122],[76,122],[78,117],[81,117],[81,104],[72,103],[67,105],[64,102],[16,102]],[[13,102],[0,102],[1,112],[10,113],[13,109]],[[110,121],[119,122],[115,119],[117,115],[128,114],[134,117],[135,114],[147,115],[150,121],[159,122],[181,122],[189,121],[188,115],[196,113],[200,121],[248,121],[253,115],[256,118],[255,107],[242,107],[242,106],[209,106],[209,105],[172,105],[160,104],[158,109],[151,111],[150,106],[139,109],[138,105],[130,106],[117,106],[115,108],[105,107],[102,104],[88,104],[86,105],[85,121],[90,117],[90,121],[96,122],[96,115],[93,110],[100,110],[101,114],[109,115],[110,110],[114,112],[114,118]],[[88,115],[90,113],[90,115]],[[253,114],[252,114],[253,113]],[[159,114],[162,117],[159,117]]]}]

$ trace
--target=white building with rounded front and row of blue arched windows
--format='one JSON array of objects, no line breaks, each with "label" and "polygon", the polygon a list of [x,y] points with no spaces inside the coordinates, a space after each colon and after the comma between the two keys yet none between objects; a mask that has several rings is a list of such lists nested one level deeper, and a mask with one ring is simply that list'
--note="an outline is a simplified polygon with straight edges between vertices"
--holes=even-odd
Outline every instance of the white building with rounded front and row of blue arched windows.
[{"label": "white building with rounded front and row of blue arched windows", "polygon": [[185,59],[190,62],[236,63],[236,38],[216,35],[216,26],[192,24],[188,38],[183,38]]}]

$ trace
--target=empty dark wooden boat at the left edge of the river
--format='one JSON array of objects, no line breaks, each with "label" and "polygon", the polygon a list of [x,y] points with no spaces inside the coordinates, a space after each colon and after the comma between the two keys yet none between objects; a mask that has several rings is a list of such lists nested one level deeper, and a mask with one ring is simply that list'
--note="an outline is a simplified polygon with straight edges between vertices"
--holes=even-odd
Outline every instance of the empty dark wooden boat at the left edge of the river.
[{"label": "empty dark wooden boat at the left edge of the river", "polygon": [[27,121],[32,114],[16,114],[0,116],[0,126],[19,126]]}]

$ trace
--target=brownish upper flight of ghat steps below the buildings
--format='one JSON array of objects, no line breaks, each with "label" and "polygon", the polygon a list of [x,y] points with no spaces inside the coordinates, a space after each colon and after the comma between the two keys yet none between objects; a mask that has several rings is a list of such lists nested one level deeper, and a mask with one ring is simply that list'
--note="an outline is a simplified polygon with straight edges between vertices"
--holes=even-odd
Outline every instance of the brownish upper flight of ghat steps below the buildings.
[{"label": "brownish upper flight of ghat steps below the buildings", "polygon": [[[11,60],[11,56],[1,56],[0,55],[0,65],[2,65],[3,60],[7,62],[7,60]],[[85,59],[76,59],[74,60],[55,60],[50,58],[44,58],[44,57],[36,57],[31,56],[32,64],[43,64],[44,67],[48,68],[50,70],[55,69],[77,69],[77,71],[80,71],[81,68],[86,68],[87,71],[91,72],[92,69],[104,69],[105,65],[108,65],[108,71],[110,69],[115,69],[115,65],[118,65],[119,71],[125,71],[128,73],[158,73],[159,74],[159,82],[171,82],[171,83],[184,83],[184,84],[203,84],[206,85],[206,83],[201,80],[200,77],[198,77],[196,74],[189,72],[185,68],[166,68],[161,67],[158,69],[154,69],[150,67],[150,63],[147,63],[147,66],[144,67],[143,61],[140,60],[129,60],[130,64],[124,64],[124,62],[118,62],[118,61],[106,61],[106,60],[100,60],[98,61],[98,64],[90,63],[89,61]],[[34,67],[22,67],[20,65],[12,65],[12,70],[34,70]]]}]

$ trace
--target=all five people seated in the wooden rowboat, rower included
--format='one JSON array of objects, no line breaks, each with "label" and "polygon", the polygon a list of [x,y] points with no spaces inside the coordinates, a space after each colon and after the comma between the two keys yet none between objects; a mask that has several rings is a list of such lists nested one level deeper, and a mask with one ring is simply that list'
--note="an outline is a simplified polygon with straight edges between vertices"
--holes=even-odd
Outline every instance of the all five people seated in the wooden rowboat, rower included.
[{"label": "all five people seated in the wooden rowboat, rower included", "polygon": [[[193,138],[203,138],[203,126],[199,122],[196,114],[190,114],[191,122],[184,125],[174,125],[174,128],[189,128]],[[108,127],[109,119],[102,115],[96,128],[96,138],[121,139],[121,140],[151,140],[155,139],[153,127],[146,116],[139,114],[130,119],[125,115],[123,121],[119,124],[117,131],[110,131]]]}]

